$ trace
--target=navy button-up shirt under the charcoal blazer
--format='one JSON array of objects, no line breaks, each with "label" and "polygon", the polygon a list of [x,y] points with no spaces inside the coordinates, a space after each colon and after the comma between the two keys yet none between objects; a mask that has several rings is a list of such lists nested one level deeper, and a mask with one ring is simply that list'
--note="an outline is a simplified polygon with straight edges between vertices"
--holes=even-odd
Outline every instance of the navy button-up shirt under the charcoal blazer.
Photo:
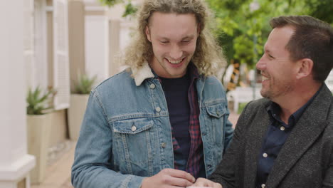
[{"label": "navy button-up shirt under the charcoal blazer", "polygon": [[[322,87],[319,88],[319,90],[321,89]],[[290,115],[288,124],[285,124],[285,122],[280,119],[281,108],[277,105],[277,103],[272,103],[267,108],[268,114],[270,115],[270,125],[268,126],[268,131],[263,139],[263,146],[258,157],[257,180],[255,187],[265,187],[268,174],[270,174],[274,161],[282,146],[285,144],[285,140],[287,140],[292,127],[294,127],[300,119],[307,106],[310,105],[313,99],[318,95],[319,90],[309,101],[307,101],[307,103],[305,103],[305,105]]]}]

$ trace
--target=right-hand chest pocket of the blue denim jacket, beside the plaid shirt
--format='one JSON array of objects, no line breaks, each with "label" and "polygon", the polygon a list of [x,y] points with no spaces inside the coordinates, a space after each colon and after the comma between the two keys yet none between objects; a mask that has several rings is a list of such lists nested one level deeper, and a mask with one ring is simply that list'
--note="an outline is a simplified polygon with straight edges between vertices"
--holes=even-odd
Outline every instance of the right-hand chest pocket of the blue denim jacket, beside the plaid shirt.
[{"label": "right-hand chest pocket of the blue denim jacket, beside the plaid shirt", "polygon": [[206,122],[209,127],[208,131],[211,133],[212,142],[223,150],[224,130],[221,125],[225,121],[226,105],[224,103],[208,105],[206,106],[206,111],[209,117]]}]

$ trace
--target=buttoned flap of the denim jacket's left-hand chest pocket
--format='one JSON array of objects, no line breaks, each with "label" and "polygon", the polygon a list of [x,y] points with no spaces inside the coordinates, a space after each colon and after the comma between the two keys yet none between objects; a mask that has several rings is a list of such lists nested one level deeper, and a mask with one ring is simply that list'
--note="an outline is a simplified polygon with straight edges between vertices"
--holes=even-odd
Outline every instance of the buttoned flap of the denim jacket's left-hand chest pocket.
[{"label": "buttoned flap of the denim jacket's left-hand chest pocket", "polygon": [[148,130],[152,126],[152,120],[146,118],[119,120],[113,123],[113,131],[125,134],[137,134],[144,130]]}]

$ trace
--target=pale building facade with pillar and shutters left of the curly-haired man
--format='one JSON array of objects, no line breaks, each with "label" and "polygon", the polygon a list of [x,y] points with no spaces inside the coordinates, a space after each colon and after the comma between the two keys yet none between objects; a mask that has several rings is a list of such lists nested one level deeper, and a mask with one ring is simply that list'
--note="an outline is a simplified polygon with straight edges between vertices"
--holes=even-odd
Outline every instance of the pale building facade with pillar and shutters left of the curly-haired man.
[{"label": "pale building facade with pillar and shutters left of the curly-haired man", "polygon": [[66,132],[57,136],[56,130],[67,130],[78,73],[102,81],[119,70],[113,57],[127,45],[133,27],[121,17],[123,10],[97,0],[0,1],[0,188],[30,187],[36,159],[27,153],[28,88],[57,90],[50,143],[66,139]]}]

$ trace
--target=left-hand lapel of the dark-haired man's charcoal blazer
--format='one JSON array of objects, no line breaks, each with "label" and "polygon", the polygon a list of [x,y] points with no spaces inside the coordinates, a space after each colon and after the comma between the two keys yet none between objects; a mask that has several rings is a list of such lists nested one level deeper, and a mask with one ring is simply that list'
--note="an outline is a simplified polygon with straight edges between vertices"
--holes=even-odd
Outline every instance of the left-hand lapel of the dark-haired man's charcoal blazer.
[{"label": "left-hand lapel of the dark-haired man's charcoal blazer", "polygon": [[249,123],[244,152],[244,186],[255,187],[258,155],[263,144],[263,137],[265,137],[268,125],[270,125],[270,117],[266,107],[256,113]]}]

